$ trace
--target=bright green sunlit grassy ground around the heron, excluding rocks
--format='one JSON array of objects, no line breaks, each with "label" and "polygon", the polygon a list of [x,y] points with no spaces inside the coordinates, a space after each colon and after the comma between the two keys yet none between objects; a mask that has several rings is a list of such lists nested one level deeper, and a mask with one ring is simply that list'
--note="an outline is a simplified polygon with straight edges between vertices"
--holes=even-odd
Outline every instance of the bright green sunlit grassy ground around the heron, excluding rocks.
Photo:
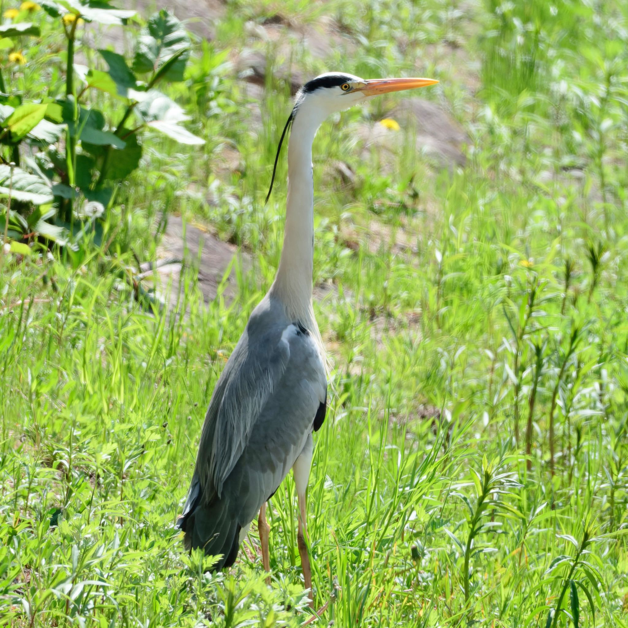
[{"label": "bright green sunlit grassy ground around the heron, excluding rocks", "polygon": [[[391,131],[393,155],[364,153],[357,128],[391,100],[315,143],[333,394],[309,492],[315,602],[329,605],[308,625],[627,625],[625,4],[288,4],[284,19],[331,16],[356,46],[350,60],[301,51],[308,75],[438,78],[421,96],[470,137],[464,168],[417,154],[409,127]],[[311,619],[291,479],[269,509],[271,587],[255,531],[210,575],[173,528],[214,382],[278,263],[284,164],[263,199],[288,89],[268,78],[259,126],[229,65],[247,21],[277,11],[229,5],[171,89],[207,143],[151,142],[107,227],[123,266],[131,248],[153,256],[158,212],[207,221],[259,254],[236,300],[204,305],[188,282],[187,317],[147,311],[102,249],[3,266],[6,624]]]}]

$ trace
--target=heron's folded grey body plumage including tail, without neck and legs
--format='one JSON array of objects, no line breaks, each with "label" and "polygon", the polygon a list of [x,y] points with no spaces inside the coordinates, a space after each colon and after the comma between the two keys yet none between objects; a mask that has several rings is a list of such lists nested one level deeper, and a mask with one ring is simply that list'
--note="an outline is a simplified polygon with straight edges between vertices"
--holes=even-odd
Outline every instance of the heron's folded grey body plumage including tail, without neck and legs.
[{"label": "heron's folded grey body plumage including tail, without neck and legs", "polygon": [[303,323],[288,318],[281,301],[266,295],[227,360],[205,417],[178,521],[188,549],[222,554],[217,569],[233,563],[241,529],[303,453],[315,420],[320,427],[326,396],[317,343]]}]

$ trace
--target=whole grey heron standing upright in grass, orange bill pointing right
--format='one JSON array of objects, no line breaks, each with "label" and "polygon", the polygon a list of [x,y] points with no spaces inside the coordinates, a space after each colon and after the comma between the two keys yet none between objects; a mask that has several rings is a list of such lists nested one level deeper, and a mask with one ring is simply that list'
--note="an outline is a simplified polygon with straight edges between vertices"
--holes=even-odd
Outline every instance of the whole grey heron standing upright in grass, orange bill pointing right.
[{"label": "whole grey heron standing upright in grass, orange bill pointing right", "polygon": [[[325,420],[325,349],[312,308],[314,190],[311,148],[333,112],[372,96],[432,85],[430,78],[364,80],[325,73],[303,85],[281,134],[288,141],[288,198],[283,249],[274,283],[253,310],[227,360],[205,416],[192,483],[177,526],[185,547],[220,556],[230,566],[252,520],[263,566],[270,570],[266,502],[293,470],[298,496],[298,548],[305,587],[311,571],[306,543],[306,489],[313,432]],[[266,197],[266,201],[268,201]]]}]

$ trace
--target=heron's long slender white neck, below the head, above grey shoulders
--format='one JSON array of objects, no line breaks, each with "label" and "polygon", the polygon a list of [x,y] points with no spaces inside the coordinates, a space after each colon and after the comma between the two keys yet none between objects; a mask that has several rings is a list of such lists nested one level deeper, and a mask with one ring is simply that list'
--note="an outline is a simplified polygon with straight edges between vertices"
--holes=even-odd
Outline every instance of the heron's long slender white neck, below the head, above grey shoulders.
[{"label": "heron's long slender white neck, below the head, above grey shoulders", "polygon": [[298,109],[288,143],[288,198],[283,250],[271,294],[288,317],[313,323],[311,306],[314,255],[312,143],[327,113],[306,103]]}]

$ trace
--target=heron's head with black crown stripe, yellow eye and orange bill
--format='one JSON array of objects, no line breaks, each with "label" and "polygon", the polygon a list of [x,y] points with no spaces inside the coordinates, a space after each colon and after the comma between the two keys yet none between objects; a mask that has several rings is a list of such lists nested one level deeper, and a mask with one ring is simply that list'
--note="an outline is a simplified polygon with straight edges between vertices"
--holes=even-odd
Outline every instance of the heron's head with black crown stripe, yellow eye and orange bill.
[{"label": "heron's head with black crown stripe, yellow eye and orange bill", "polygon": [[320,119],[359,105],[374,96],[438,83],[432,78],[374,78],[365,80],[345,72],[327,72],[308,81],[296,95],[293,116],[317,111]]}]

